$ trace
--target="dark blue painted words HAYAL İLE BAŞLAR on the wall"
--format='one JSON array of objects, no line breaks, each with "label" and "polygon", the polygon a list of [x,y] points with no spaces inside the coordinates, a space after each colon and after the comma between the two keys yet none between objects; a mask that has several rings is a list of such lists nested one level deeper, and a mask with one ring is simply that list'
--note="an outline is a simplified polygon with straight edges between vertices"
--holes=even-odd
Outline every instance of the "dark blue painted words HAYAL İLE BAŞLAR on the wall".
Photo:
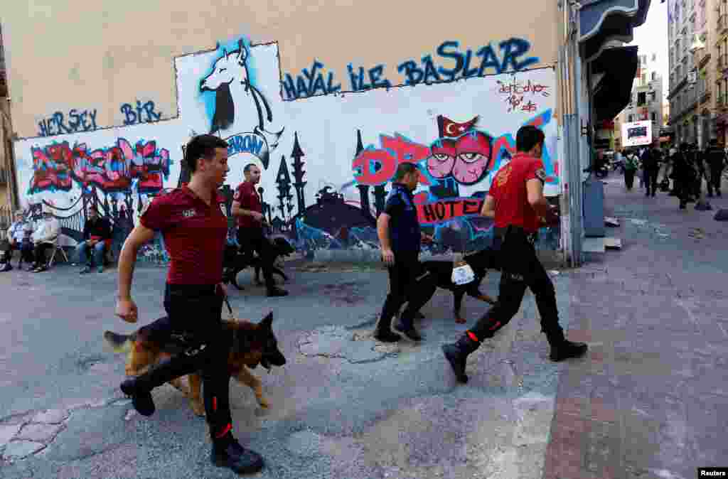
[{"label": "dark blue painted words HAYAL \u0130LE BA\u015eLAR on the wall", "polygon": [[[499,50],[499,52],[496,52]],[[457,79],[472,78],[488,74],[502,74],[506,71],[521,71],[539,63],[537,57],[527,56],[531,44],[525,39],[511,38],[499,42],[497,47],[487,44],[478,50],[460,50],[458,41],[443,41],[437,48],[435,58],[424,55],[421,62],[405,60],[397,66],[397,72],[403,75],[398,82],[384,78],[383,64],[373,68],[347,66],[349,87],[347,91],[363,92],[375,88],[389,88],[393,85],[416,85],[420,83],[454,82]],[[476,60],[480,58],[480,60]],[[443,64],[443,62],[446,62]],[[454,62],[454,64],[450,64]],[[323,63],[314,60],[311,71],[301,71],[294,79],[285,74],[282,81],[282,92],[285,100],[297,100],[315,95],[328,95],[341,91],[341,84],[336,84],[335,74],[328,72],[326,79],[321,73]]]}]

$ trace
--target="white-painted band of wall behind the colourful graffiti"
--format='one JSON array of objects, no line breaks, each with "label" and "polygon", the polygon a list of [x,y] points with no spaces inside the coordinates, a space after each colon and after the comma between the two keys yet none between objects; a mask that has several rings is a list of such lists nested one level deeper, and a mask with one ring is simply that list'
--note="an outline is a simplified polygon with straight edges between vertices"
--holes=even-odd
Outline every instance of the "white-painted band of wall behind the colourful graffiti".
[{"label": "white-painted band of wall behind the colourful graffiti", "polygon": [[[52,156],[48,148],[57,143],[68,142],[70,149],[79,144],[85,144],[88,151],[105,149],[105,160],[98,160],[97,167],[103,173],[104,181],[111,182],[119,176],[110,166],[110,156],[114,146],[123,146],[120,139],[127,140],[135,146],[137,142],[156,142],[156,151],[148,152],[147,162],[162,162],[166,164],[168,155],[168,174],[164,179],[165,187],[175,187],[180,175],[181,146],[191,135],[210,132],[215,111],[222,108],[223,103],[216,102],[215,98],[221,95],[221,90],[204,91],[201,81],[210,88],[218,84],[229,83],[229,90],[234,104],[234,122],[223,128],[217,134],[222,138],[250,133],[244,135],[257,141],[265,140],[269,151],[269,163],[264,165],[264,157],[250,153],[234,153],[229,165],[232,168],[228,176],[230,185],[234,188],[242,181],[242,167],[248,162],[261,165],[264,188],[264,200],[274,207],[278,206],[277,173],[279,173],[282,156],[288,166],[290,181],[293,177],[293,159],[290,154],[293,149],[294,134],[298,135],[301,149],[304,151],[305,170],[304,188],[306,207],[311,207],[317,201],[317,193],[330,186],[332,191],[343,194],[350,205],[357,206],[360,202],[360,191],[357,184],[368,184],[372,189],[379,183],[387,183],[391,175],[374,174],[373,170],[363,175],[355,174],[355,167],[373,167],[372,159],[383,161],[384,171],[393,169],[400,160],[410,158],[418,162],[424,170],[430,165],[430,171],[443,172],[442,167],[433,169],[437,159],[432,154],[431,147],[440,138],[438,130],[438,116],[446,116],[453,122],[469,122],[478,116],[475,128],[470,136],[482,140],[483,133],[493,138],[493,147],[502,147],[498,151],[480,150],[481,154],[491,157],[491,173],[480,175],[479,165],[483,165],[483,156],[475,157],[474,163],[467,163],[463,159],[454,159],[454,170],[448,178],[436,178],[431,174],[424,175],[423,185],[418,192],[427,194],[421,197],[422,202],[434,204],[438,198],[432,194],[432,187],[448,183],[451,191],[447,197],[440,197],[440,202],[454,201],[454,197],[472,197],[475,194],[484,194],[490,186],[490,179],[494,171],[502,166],[502,155],[507,149],[513,150],[515,146],[515,132],[526,122],[532,119],[545,119],[540,124],[547,137],[547,156],[545,165],[547,175],[553,177],[547,184],[547,194],[558,194],[558,165],[561,162],[558,148],[558,129],[553,114],[556,104],[556,79],[553,68],[541,68],[532,71],[521,71],[515,74],[502,74],[499,76],[475,77],[451,83],[417,85],[414,87],[379,88],[368,92],[344,93],[323,95],[295,101],[284,101],[281,97],[279,52],[277,44],[264,44],[246,47],[247,57],[240,66],[238,55],[240,50],[236,41],[218,50],[184,55],[175,59],[176,82],[178,92],[179,117],[162,122],[138,124],[130,127],[114,127],[106,130],[79,133],[73,135],[58,135],[53,138],[31,138],[15,143],[17,170],[21,194],[24,205],[39,202],[41,199],[52,202],[58,208],[68,208],[72,205],[75,210],[80,206],[76,203],[81,194],[79,181],[71,181],[69,191],[53,191],[51,187],[33,188],[34,178],[40,177],[44,168],[53,167],[52,162],[41,166],[33,166],[33,149],[40,149],[47,157]],[[227,56],[225,55],[227,54]],[[214,67],[214,68],[213,68]],[[224,68],[224,71],[221,71]],[[212,75],[210,75],[212,72]],[[252,95],[252,90],[245,91],[246,78],[260,92]],[[325,80],[325,79],[324,79]],[[516,85],[514,87],[514,85]],[[258,108],[254,96],[263,114],[262,128],[259,125]],[[271,119],[267,118],[263,99],[270,107]],[[365,151],[355,158],[357,130],[360,130]],[[473,133],[475,132],[475,133]],[[280,133],[280,135],[279,135]],[[474,136],[473,136],[474,135]],[[385,144],[386,143],[386,144]],[[454,140],[455,143],[455,140]],[[477,142],[476,142],[477,143]],[[460,152],[467,139],[460,141]],[[507,149],[506,149],[507,146]],[[166,150],[162,151],[162,150]],[[386,151],[382,151],[386,150]],[[129,165],[130,150],[122,148],[123,162]],[[265,149],[261,149],[265,151]],[[475,152],[475,151],[473,151]],[[407,154],[414,154],[407,157]],[[97,154],[103,157],[103,155]],[[92,178],[92,167],[84,172],[80,162],[76,159],[76,177]],[[134,160],[141,165],[139,158]],[[448,161],[453,161],[449,159]],[[393,170],[392,170],[393,171]],[[471,173],[467,173],[467,172]],[[459,173],[458,173],[459,172]],[[464,172],[464,173],[463,173]],[[368,174],[367,174],[368,173]],[[85,175],[85,176],[84,176]],[[441,175],[441,173],[440,173]],[[429,184],[428,184],[429,183]],[[466,184],[472,183],[472,184]],[[132,186],[134,209],[137,210],[138,192]],[[389,186],[387,186],[387,190]],[[456,191],[455,191],[456,189]],[[286,220],[302,213],[296,204],[296,191],[290,186],[293,194],[293,209],[287,214]],[[122,197],[123,195],[120,195]],[[144,198],[145,195],[141,194]],[[448,207],[450,207],[448,205]],[[443,221],[435,221],[430,226],[444,227],[451,220],[462,221],[462,205],[456,205],[456,216],[446,215]],[[371,198],[371,213],[375,211],[375,199]],[[472,207],[470,207],[472,213]],[[64,215],[74,210],[64,211]],[[460,214],[458,214],[458,212]],[[275,215],[280,215],[276,210]],[[472,215],[471,215],[472,216]],[[422,218],[421,218],[422,219]],[[333,225],[328,234],[333,234]],[[472,228],[477,234],[477,228]]]}]

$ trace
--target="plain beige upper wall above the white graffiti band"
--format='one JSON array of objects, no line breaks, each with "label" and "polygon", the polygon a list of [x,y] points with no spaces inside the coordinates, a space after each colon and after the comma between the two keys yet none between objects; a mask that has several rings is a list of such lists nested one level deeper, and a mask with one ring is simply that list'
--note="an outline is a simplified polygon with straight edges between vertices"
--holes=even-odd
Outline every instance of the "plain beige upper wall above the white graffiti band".
[{"label": "plain beige upper wall above the white graffiti band", "polygon": [[20,138],[39,135],[39,122],[57,111],[68,120],[73,108],[96,110],[87,124],[98,128],[123,125],[119,108],[137,100],[154,101],[160,119],[174,118],[173,58],[237,36],[277,41],[283,74],[300,74],[315,58],[346,90],[349,63],[384,64],[383,77],[397,83],[397,65],[435,56],[447,40],[475,55],[488,42],[497,51],[499,41],[518,37],[531,44],[526,56],[551,65],[560,19],[553,1],[475,0],[28,0],[9,2],[1,15]]}]

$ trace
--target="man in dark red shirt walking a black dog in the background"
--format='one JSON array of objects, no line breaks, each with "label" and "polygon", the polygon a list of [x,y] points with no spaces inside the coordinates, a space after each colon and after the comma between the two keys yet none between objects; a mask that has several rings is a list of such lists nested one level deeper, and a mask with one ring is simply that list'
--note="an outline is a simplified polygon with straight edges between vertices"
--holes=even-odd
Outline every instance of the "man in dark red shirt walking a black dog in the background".
[{"label": "man in dark red shirt walking a black dog in the background", "polygon": [[288,291],[277,288],[273,280],[275,254],[273,245],[263,233],[263,205],[256,191],[256,185],[261,181],[261,169],[250,163],[245,165],[242,173],[245,181],[235,189],[231,209],[232,215],[237,216],[237,242],[243,250],[256,251],[261,258],[268,296],[287,296]]}]

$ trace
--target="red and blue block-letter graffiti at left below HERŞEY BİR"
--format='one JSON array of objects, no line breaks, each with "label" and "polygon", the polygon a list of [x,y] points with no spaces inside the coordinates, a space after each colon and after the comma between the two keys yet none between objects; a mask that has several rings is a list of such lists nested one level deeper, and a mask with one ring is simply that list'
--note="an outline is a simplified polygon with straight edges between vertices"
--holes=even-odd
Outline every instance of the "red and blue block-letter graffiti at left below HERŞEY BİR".
[{"label": "red and blue block-letter graffiti at left below HER\u015eEY B\u0130R", "polygon": [[77,183],[101,191],[126,191],[138,181],[140,193],[164,187],[170,173],[170,154],[157,149],[156,141],[139,141],[132,147],[124,138],[116,146],[89,151],[85,143],[71,149],[68,141],[43,149],[33,148],[33,176],[27,194],[40,191],[69,191]]}]

